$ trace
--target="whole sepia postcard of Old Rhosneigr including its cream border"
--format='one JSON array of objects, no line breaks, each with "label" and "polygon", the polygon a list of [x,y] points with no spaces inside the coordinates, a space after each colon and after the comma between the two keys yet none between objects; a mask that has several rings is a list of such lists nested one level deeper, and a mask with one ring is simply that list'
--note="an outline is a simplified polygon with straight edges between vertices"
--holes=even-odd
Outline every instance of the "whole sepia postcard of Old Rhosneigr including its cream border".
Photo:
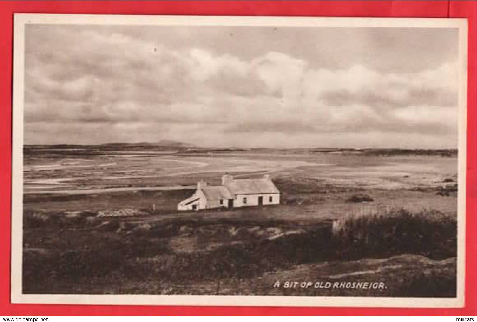
[{"label": "whole sepia postcard of Old Rhosneigr including its cream border", "polygon": [[14,23],[12,302],[463,306],[466,20]]}]

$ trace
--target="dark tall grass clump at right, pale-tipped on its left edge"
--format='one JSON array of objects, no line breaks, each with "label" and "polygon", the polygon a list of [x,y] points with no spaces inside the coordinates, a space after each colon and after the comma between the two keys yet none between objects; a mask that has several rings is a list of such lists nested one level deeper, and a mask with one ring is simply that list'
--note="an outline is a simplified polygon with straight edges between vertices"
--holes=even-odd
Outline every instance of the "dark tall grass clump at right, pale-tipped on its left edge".
[{"label": "dark tall grass clump at right, pale-tipped on its left edge", "polygon": [[332,224],[332,236],[343,258],[396,253],[415,253],[434,259],[454,257],[456,230],[456,219],[439,211],[404,209],[356,214]]}]

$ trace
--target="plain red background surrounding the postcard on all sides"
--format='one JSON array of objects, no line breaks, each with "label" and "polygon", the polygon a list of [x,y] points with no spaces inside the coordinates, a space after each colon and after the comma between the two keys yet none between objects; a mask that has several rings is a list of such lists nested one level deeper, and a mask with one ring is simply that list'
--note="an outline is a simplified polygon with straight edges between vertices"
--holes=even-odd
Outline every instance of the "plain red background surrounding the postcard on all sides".
[{"label": "plain red background surrounding the postcard on all sides", "polygon": [[[466,305],[461,309],[39,305],[10,303],[11,91],[13,13],[189,14],[467,18]],[[477,1],[23,1],[0,0],[0,315],[477,315],[476,41]],[[446,46],[446,44],[442,44]],[[419,299],[416,299],[419,301]]]}]

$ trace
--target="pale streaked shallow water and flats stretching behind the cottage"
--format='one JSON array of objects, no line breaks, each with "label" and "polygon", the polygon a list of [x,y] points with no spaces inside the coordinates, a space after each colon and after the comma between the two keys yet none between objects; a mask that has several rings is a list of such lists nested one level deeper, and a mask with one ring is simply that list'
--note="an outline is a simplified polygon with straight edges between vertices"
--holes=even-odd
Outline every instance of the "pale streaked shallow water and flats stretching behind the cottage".
[{"label": "pale streaked shallow water and flats stretching behind the cottage", "polygon": [[[264,173],[282,177],[292,173],[347,187],[411,189],[442,185],[449,178],[455,180],[457,170],[456,158],[443,157],[250,152],[189,156],[168,153],[114,151],[106,155],[82,156],[81,159],[25,154],[28,164],[24,171],[25,193],[184,189],[192,183],[187,178],[210,179],[217,173],[215,179],[219,181],[220,175],[226,172],[239,178]],[[135,157],[137,155],[141,158]]]}]

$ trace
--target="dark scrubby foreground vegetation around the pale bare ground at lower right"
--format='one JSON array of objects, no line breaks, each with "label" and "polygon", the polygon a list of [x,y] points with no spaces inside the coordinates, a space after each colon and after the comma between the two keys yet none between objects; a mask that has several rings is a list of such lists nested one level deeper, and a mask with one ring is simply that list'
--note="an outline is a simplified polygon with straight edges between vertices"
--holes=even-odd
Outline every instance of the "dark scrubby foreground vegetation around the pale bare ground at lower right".
[{"label": "dark scrubby foreground vegetation around the pale bare ground at lower right", "polygon": [[[147,222],[94,211],[26,211],[24,227],[25,293],[216,293],[200,285],[244,285],[303,264],[340,266],[401,254],[456,257],[456,220],[437,211],[397,210],[316,224],[183,217]],[[270,290],[254,283],[244,292]],[[408,270],[386,295],[448,297],[455,290],[451,262]]]}]

